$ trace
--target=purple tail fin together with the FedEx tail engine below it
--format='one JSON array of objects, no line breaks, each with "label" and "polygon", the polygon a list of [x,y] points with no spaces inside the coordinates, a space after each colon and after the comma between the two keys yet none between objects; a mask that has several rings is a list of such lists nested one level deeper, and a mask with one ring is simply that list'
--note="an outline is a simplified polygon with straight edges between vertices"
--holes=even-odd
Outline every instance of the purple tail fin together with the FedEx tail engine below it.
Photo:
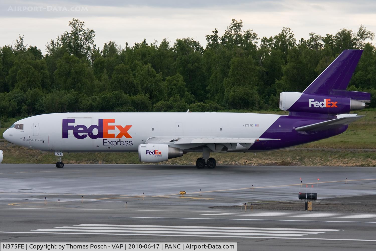
[{"label": "purple tail fin together with the FedEx tail engine below it", "polygon": [[346,91],[363,50],[344,50],[303,93],[280,93],[279,108],[289,115],[338,115],[361,110],[371,94]]}]

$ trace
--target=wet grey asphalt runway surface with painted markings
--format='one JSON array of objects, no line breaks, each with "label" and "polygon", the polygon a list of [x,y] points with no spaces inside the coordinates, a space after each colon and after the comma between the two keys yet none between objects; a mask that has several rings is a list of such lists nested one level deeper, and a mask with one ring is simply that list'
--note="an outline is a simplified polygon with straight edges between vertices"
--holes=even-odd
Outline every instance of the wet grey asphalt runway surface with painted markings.
[{"label": "wet grey asphalt runway surface with painted markings", "polygon": [[374,167],[1,164],[0,241],[374,249],[376,214],[306,212],[303,201],[302,211],[251,211],[249,202],[297,200],[298,192],[371,195],[375,188]]}]

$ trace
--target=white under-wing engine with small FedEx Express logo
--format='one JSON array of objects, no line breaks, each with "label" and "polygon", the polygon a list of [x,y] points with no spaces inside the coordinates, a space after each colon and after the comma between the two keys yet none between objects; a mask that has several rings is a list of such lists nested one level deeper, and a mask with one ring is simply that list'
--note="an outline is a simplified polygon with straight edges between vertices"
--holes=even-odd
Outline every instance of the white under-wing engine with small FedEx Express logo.
[{"label": "white under-wing engine with small FedEx Express logo", "polygon": [[141,162],[162,162],[183,156],[183,150],[166,144],[142,144],[138,146],[138,159]]}]

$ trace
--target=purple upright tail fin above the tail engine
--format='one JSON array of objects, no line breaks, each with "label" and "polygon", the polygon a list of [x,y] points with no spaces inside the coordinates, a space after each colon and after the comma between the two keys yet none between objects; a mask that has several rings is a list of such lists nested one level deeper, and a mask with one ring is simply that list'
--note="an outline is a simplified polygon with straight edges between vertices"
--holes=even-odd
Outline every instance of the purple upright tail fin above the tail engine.
[{"label": "purple upright tail fin above the tail engine", "polygon": [[303,93],[332,94],[346,90],[363,50],[344,50]]}]

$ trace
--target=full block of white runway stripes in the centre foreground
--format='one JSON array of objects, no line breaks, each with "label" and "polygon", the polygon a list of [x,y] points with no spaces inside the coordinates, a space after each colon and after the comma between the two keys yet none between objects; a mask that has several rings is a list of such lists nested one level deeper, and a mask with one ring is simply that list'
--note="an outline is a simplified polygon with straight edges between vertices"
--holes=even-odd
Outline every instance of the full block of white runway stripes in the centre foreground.
[{"label": "full block of white runway stripes in the centre foreground", "polygon": [[[115,225],[115,224],[80,224],[47,229],[36,229],[39,233],[92,233],[124,235],[159,235],[159,236],[210,236],[210,237],[299,237],[307,234],[322,234],[340,229],[307,228],[252,228],[252,227],[206,227],[206,226],[170,226],[170,225]],[[80,232],[80,233],[79,233]]]}]

